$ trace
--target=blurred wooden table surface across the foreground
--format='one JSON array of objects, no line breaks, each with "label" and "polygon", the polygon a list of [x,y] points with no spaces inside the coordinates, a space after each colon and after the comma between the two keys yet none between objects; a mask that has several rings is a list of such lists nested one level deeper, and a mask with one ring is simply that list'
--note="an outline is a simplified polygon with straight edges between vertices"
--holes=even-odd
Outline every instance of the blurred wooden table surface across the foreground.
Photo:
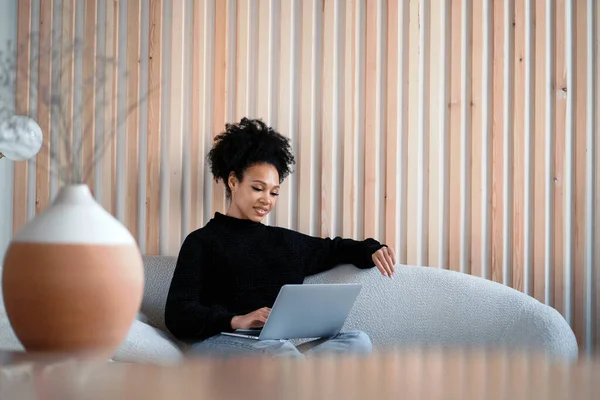
[{"label": "blurred wooden table surface across the foreground", "polygon": [[600,399],[600,360],[411,350],[176,366],[0,352],[0,399]]}]

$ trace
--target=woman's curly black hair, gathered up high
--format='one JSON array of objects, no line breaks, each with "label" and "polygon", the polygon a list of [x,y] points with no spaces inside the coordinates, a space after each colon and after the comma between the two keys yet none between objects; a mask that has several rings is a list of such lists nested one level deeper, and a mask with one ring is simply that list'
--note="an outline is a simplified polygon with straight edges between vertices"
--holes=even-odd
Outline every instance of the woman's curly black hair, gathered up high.
[{"label": "woman's curly black hair, gathered up high", "polygon": [[267,163],[277,169],[281,183],[295,164],[290,140],[260,119],[242,118],[239,123],[226,124],[225,132],[214,141],[207,159],[215,181],[225,184],[227,197],[231,197],[227,184],[231,172],[241,181],[248,167]]}]

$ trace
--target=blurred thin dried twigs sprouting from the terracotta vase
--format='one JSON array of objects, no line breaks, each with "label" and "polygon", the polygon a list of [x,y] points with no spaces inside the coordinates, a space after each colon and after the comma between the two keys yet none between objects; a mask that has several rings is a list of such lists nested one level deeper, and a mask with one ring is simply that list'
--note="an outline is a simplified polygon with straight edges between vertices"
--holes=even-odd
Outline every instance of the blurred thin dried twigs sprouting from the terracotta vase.
[{"label": "blurred thin dried twigs sprouting from the terracotta vase", "polygon": [[[108,68],[114,68],[116,65],[116,59],[113,57],[103,57],[96,56],[95,65],[93,68],[93,73],[89,74],[89,76],[82,77],[81,86],[75,88],[77,90],[84,91],[84,96],[82,99],[81,105],[73,104],[73,93],[68,93],[72,89],[68,85],[68,82],[65,82],[65,75],[69,74],[72,76],[74,73],[74,57],[75,55],[85,54],[85,45],[82,40],[76,38],[73,41],[64,41],[58,44],[55,44],[48,51],[47,48],[40,48],[38,41],[38,34],[31,33],[27,42],[21,43],[17,48],[13,49],[12,42],[8,42],[8,51],[5,53],[0,51],[0,88],[8,87],[10,90],[8,92],[13,93],[15,95],[15,99],[8,99],[6,95],[0,97],[0,105],[2,103],[10,104],[13,103],[13,100],[16,100],[13,104],[23,103],[20,100],[27,100],[24,104],[28,104],[29,96],[36,95],[38,99],[38,109],[42,108],[44,105],[49,110],[50,113],[50,133],[46,134],[46,137],[52,138],[53,129],[58,129],[58,146],[57,143],[52,145],[52,140],[47,141],[49,143],[42,143],[42,148],[44,151],[47,151],[48,157],[50,158],[50,168],[46,168],[45,165],[39,164],[39,167],[48,170],[51,175],[56,174],[59,180],[64,183],[79,183],[85,182],[89,178],[89,174],[91,174],[92,167],[98,163],[101,159],[108,143],[113,139],[114,132],[117,132],[124,121],[127,121],[129,115],[138,107],[139,103],[134,103],[127,108],[127,112],[125,115],[117,115],[116,124],[109,124],[111,126],[110,130],[104,130],[104,144],[98,147],[97,141],[94,141],[95,148],[90,160],[82,160],[82,149],[84,144],[86,143],[86,139],[90,136],[90,132],[92,131],[92,123],[95,122],[95,118],[86,119],[84,122],[84,126],[80,127],[80,131],[78,130],[78,137],[73,138],[74,135],[74,122],[79,121],[83,118],[83,114],[87,109],[85,109],[85,105],[93,100],[93,97],[96,99],[101,99],[100,101],[95,101],[95,110],[93,111],[93,115],[97,115],[98,109],[102,107],[106,107],[107,105],[115,104],[117,95],[115,94],[114,99],[107,99],[105,89],[106,83],[108,82],[108,76],[106,71]],[[33,60],[30,60],[29,65],[22,65],[22,63],[18,62],[18,57],[24,53],[24,51],[33,51],[37,53],[37,59],[43,60],[44,62],[49,62],[51,67],[58,66],[57,68],[51,69],[51,83],[50,85],[36,85],[30,86],[27,93],[19,94],[14,88],[16,87],[16,79],[17,76],[24,76],[28,79],[31,79],[32,75],[32,64]],[[39,61],[38,61],[39,62]],[[67,76],[69,76],[67,75]],[[120,76],[119,73],[113,76],[113,79],[127,79],[127,72],[125,72],[124,76]],[[58,90],[54,85],[58,82]],[[67,83],[67,84],[65,84]],[[84,88],[88,85],[94,85],[94,89],[91,91],[84,90]],[[67,91],[67,92],[66,92]],[[23,99],[21,96],[27,96]],[[70,97],[70,101],[65,104],[65,99]],[[145,100],[147,96],[143,97],[142,100]],[[75,109],[76,108],[76,109]],[[85,111],[84,111],[85,110]],[[10,106],[0,106],[0,118],[4,115],[10,116],[14,114],[14,110]],[[120,113],[118,113],[120,114]],[[56,122],[53,122],[56,121]],[[112,132],[114,131],[114,132]],[[110,134],[108,134],[110,133]],[[80,137],[79,137],[80,136]],[[93,135],[92,135],[93,137]],[[74,143],[75,141],[75,143]],[[61,150],[65,154],[66,159],[61,160]],[[89,163],[87,163],[89,161]],[[81,165],[80,165],[81,164]]]}]

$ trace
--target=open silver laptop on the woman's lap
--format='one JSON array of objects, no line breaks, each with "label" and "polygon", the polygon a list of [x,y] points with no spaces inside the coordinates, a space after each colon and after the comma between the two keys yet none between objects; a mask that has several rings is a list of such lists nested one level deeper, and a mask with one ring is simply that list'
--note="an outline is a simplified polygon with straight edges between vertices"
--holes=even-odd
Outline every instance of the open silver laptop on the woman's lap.
[{"label": "open silver laptop on the woman's lap", "polygon": [[331,337],[340,332],[362,285],[284,285],[261,329],[238,329],[224,335],[256,340]]}]

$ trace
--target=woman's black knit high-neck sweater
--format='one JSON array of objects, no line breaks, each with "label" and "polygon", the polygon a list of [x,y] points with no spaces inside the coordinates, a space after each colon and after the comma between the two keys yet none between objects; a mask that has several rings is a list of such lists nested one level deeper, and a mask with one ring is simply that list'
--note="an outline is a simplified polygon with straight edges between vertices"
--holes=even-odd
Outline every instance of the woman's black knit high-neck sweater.
[{"label": "woman's black knit high-neck sweater", "polygon": [[374,267],[374,239],[323,239],[216,213],[183,242],[165,323],[182,341],[232,331],[231,319],[272,307],[281,287],[339,264]]}]

